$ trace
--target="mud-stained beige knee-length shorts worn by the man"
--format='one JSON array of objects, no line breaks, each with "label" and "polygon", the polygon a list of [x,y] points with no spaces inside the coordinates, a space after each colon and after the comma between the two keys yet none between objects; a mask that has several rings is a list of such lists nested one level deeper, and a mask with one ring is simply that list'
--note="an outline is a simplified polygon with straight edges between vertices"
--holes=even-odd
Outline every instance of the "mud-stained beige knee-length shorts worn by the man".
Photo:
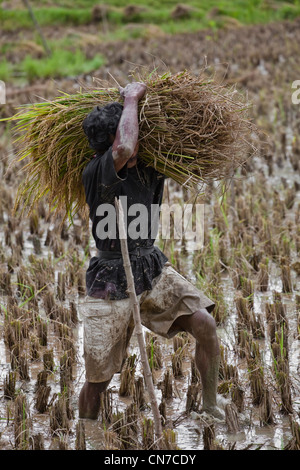
[{"label": "mud-stained beige knee-length shorts worn by the man", "polygon": [[[152,290],[138,295],[142,324],[153,333],[172,338],[179,331],[173,324],[182,315],[200,308],[211,312],[214,303],[166,263],[153,281]],[[134,330],[129,298],[103,300],[87,296],[80,306],[84,321],[86,380],[105,382],[120,372]]]}]

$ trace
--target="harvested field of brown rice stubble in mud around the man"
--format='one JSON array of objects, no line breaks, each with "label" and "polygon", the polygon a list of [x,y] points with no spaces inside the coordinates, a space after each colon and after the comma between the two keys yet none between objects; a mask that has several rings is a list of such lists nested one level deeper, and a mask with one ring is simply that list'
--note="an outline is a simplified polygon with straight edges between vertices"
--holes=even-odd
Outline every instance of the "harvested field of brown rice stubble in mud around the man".
[{"label": "harvested field of brown rice stubble in mud around the man", "polygon": [[[197,73],[208,64],[220,78],[249,93],[253,118],[268,133],[256,141],[258,155],[231,185],[223,212],[216,188],[207,188],[204,249],[186,256],[182,246],[164,246],[181,273],[217,300],[223,354],[219,395],[227,420],[211,422],[199,414],[200,384],[200,396],[193,396],[193,406],[187,410],[190,385],[194,380],[198,383],[191,368],[193,341],[186,337],[175,343],[157,340],[162,359],[154,371],[157,398],[166,407],[166,428],[173,428],[181,449],[300,446],[300,105],[292,103],[291,88],[300,79],[299,25],[299,21],[283,22],[86,46],[91,56],[97,51],[107,57],[106,66],[93,75],[105,79],[113,75],[121,84],[136,65],[151,70],[158,65],[161,70],[188,68]],[[13,105],[55,96],[58,89],[76,90],[79,82],[89,84],[91,77],[36,82],[26,89],[8,86],[8,105],[2,112],[9,115]],[[9,132],[1,135],[0,142],[0,448],[74,449],[78,394],[84,382],[79,304],[84,300],[84,271],[93,242],[89,244],[80,219],[76,227],[61,231],[46,206],[39,207],[37,217],[11,216],[21,174],[9,167],[14,150]],[[183,197],[172,184],[169,194],[173,200]],[[241,298],[248,299],[246,306]],[[172,367],[172,355],[179,346],[181,371]],[[50,358],[53,353],[54,364],[47,361],[47,353]],[[134,338],[130,354],[139,356]],[[42,409],[39,402],[37,411],[41,389],[36,383],[44,370],[48,371],[42,389],[45,406]],[[163,399],[167,371],[172,397]],[[135,380],[141,375],[137,357]],[[141,432],[151,412],[145,409],[132,415],[136,387],[129,387],[129,396],[120,397],[120,383],[117,374],[110,386],[112,403],[105,425],[103,414],[96,422],[85,421],[87,449],[151,447],[151,436],[143,442]],[[117,429],[117,416],[123,431]],[[122,421],[126,416],[127,422],[134,416],[139,426],[138,430],[131,426],[129,435]],[[209,430],[216,442],[207,437]]]}]

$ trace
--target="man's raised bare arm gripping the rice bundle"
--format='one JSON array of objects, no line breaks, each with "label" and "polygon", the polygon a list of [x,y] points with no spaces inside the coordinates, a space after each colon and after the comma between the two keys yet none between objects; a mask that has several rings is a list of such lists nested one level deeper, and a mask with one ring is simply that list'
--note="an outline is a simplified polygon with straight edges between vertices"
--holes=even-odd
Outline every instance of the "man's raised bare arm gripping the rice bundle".
[{"label": "man's raised bare arm gripping the rice bundle", "polygon": [[146,92],[144,83],[130,83],[120,90],[124,97],[124,108],[112,146],[116,172],[131,158],[139,136],[138,102]]}]

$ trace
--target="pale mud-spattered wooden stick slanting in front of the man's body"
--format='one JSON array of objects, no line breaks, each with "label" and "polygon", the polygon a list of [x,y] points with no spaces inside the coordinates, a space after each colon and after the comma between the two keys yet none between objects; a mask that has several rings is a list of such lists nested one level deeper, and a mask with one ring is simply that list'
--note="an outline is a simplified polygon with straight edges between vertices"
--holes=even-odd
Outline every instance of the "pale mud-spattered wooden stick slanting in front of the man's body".
[{"label": "pale mud-spattered wooden stick slanting in front of the man's body", "polygon": [[159,440],[162,437],[160,412],[159,412],[158,404],[156,401],[152,374],[151,374],[151,370],[150,370],[150,366],[149,366],[149,362],[147,358],[146,345],[144,341],[141,316],[140,316],[140,306],[139,306],[139,302],[137,299],[135,285],[134,285],[134,278],[133,278],[133,274],[131,270],[131,264],[130,264],[130,258],[129,258],[129,253],[128,253],[128,246],[127,246],[127,234],[125,232],[123,208],[122,208],[122,204],[119,202],[117,198],[115,198],[115,206],[116,206],[116,211],[117,211],[117,221],[118,221],[118,226],[119,226],[119,236],[120,236],[123,264],[124,264],[124,269],[125,269],[125,274],[126,274],[126,279],[127,279],[127,291],[129,293],[129,298],[131,300],[132,307],[133,307],[133,318],[134,318],[136,336],[137,336],[140,353],[141,353],[141,360],[142,360],[142,365],[143,365],[146,388],[149,393],[151,409],[153,413],[155,436],[156,436],[156,439]]}]

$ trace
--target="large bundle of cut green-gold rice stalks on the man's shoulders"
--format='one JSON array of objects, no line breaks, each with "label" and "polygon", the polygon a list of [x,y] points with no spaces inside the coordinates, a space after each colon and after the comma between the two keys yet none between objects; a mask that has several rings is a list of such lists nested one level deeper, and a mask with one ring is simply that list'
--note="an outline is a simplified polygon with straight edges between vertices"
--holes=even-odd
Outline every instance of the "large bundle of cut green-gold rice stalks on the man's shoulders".
[{"label": "large bundle of cut green-gold rice stalks on the man's shoulders", "polygon": [[[198,192],[203,183],[232,176],[249,156],[252,125],[244,96],[188,72],[143,81],[139,158]],[[84,212],[81,175],[94,152],[82,122],[95,105],[112,101],[122,102],[119,90],[100,87],[25,105],[11,118],[17,121],[17,159],[26,162],[16,212],[29,213],[44,197],[64,218]]]}]

